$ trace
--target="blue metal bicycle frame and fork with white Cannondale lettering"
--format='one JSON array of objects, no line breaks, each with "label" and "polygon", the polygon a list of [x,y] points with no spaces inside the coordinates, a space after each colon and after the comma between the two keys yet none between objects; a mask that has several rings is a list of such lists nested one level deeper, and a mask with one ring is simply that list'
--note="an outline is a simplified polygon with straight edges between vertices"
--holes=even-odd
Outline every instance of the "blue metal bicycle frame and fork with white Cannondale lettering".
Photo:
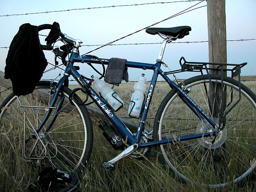
[{"label": "blue metal bicycle frame and fork with white Cannondale lettering", "polygon": [[[108,59],[100,59],[104,65],[108,65],[109,60]],[[211,126],[214,127],[213,131],[209,133],[203,133],[203,134],[196,134],[196,135],[187,135],[187,136],[182,136],[179,138],[169,138],[161,141],[155,141],[155,142],[146,142],[139,144],[139,148],[144,148],[144,147],[150,147],[150,146],[156,146],[160,144],[167,144],[170,142],[178,142],[178,141],[183,141],[183,140],[190,140],[190,139],[195,139],[195,138],[202,138],[202,137],[212,137],[215,136],[215,133],[218,132],[218,127],[211,120],[211,118],[204,112],[202,109],[189,97],[187,96],[186,91],[182,90],[178,85],[176,85],[171,79],[168,78],[168,76],[161,70],[161,63],[162,62],[157,62],[156,64],[148,64],[148,63],[137,63],[137,62],[131,62],[127,61],[126,62],[126,67],[131,67],[131,68],[141,68],[144,70],[153,70],[153,76],[152,80],[150,83],[150,86],[148,88],[148,93],[145,98],[145,103],[143,106],[143,111],[141,113],[141,118],[139,121],[138,129],[136,135],[134,135],[128,127],[119,119],[119,117],[113,112],[113,110],[108,106],[108,104],[96,93],[96,91],[91,87],[88,86],[88,83],[85,79],[83,79],[78,71],[74,68],[74,63],[100,63],[98,59],[92,58],[92,57],[84,57],[80,56],[76,53],[71,53],[69,55],[69,62],[67,63],[67,67],[65,69],[64,76],[59,80],[56,91],[54,92],[54,96],[52,99],[52,102],[50,103],[50,107],[54,106],[57,97],[59,95],[59,89],[63,85],[65,81],[68,80],[69,76],[72,75],[76,81],[80,84],[81,87],[87,87],[87,94],[90,96],[90,98],[93,100],[93,102],[96,103],[96,105],[99,107],[99,109],[104,113],[104,115],[108,118],[108,120],[113,124],[113,126],[119,131],[121,134],[121,137],[127,141],[129,145],[132,144],[139,144],[139,141],[141,139],[141,135],[143,134],[144,127],[145,127],[145,122],[147,119],[147,114],[148,110],[150,107],[150,102],[152,99],[152,95],[154,93],[154,89],[156,86],[156,82],[158,79],[158,75],[160,74],[163,79],[169,84],[171,89],[176,89],[180,93],[179,96],[185,102],[188,107],[195,113],[196,116],[198,116],[200,119],[206,119]],[[49,107],[49,109],[50,109]],[[41,125],[38,127],[37,131],[39,132],[41,127],[43,127],[44,122],[47,120],[47,118],[50,116],[52,109],[49,110],[48,114],[46,114],[45,119],[42,121]],[[58,111],[58,110],[56,110]],[[57,112],[58,113],[58,112]],[[51,125],[48,126],[50,128]],[[46,129],[48,131],[48,129]]]}]

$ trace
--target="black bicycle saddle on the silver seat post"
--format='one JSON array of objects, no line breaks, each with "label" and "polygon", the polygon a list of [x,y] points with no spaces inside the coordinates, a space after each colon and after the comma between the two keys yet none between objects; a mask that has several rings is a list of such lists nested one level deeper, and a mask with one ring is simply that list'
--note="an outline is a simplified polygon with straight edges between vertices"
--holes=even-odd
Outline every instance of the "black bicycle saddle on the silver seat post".
[{"label": "black bicycle saddle on the silver seat post", "polygon": [[171,28],[147,28],[146,32],[150,35],[156,35],[161,33],[163,35],[178,37],[178,39],[182,39],[184,36],[189,35],[189,31],[191,31],[191,27],[189,26],[179,26],[179,27],[171,27]]}]

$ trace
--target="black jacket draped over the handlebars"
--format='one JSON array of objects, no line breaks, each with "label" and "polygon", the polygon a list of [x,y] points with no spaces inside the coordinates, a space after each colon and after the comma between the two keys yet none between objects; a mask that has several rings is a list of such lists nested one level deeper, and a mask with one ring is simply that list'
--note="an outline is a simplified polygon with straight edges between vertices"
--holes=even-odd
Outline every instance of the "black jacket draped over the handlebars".
[{"label": "black jacket draped over the handlebars", "polygon": [[46,66],[47,60],[40,47],[37,26],[29,23],[21,25],[11,41],[6,58],[4,78],[11,79],[13,93],[32,93]]}]

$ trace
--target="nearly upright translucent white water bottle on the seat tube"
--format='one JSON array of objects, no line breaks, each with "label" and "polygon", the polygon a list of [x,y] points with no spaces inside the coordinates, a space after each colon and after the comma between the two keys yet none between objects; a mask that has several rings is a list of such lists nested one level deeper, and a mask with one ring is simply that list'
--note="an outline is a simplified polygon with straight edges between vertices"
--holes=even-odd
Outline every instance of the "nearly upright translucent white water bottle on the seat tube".
[{"label": "nearly upright translucent white water bottle on the seat tube", "polygon": [[147,85],[145,85],[146,78],[144,76],[145,74],[142,74],[141,77],[138,78],[138,82],[134,84],[135,92],[132,94],[128,109],[128,114],[137,118],[139,118],[141,113],[141,107],[145,98],[144,92],[147,89]]}]

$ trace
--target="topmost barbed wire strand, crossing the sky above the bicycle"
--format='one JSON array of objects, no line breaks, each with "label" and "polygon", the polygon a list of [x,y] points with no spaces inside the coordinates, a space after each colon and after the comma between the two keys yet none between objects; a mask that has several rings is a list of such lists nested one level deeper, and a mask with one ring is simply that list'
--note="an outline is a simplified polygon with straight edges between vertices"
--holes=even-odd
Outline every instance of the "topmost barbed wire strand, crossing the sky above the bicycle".
[{"label": "topmost barbed wire strand, crossing the sky above the bicycle", "polygon": [[[22,13],[22,14],[6,14],[0,15],[0,17],[10,17],[10,16],[21,16],[21,15],[35,15],[43,13],[58,13],[67,11],[79,11],[79,10],[90,10],[90,9],[103,9],[103,8],[115,8],[115,7],[128,7],[128,6],[144,6],[144,5],[155,5],[155,4],[170,4],[170,3],[180,3],[180,2],[196,2],[202,0],[183,0],[183,1],[173,1],[173,2],[154,2],[154,3],[143,3],[143,4],[130,4],[130,5],[119,5],[119,6],[102,6],[102,7],[87,7],[87,8],[77,8],[77,9],[66,9],[66,10],[56,10],[56,11],[42,11],[37,13]],[[203,0],[206,1],[206,0]]]}]

